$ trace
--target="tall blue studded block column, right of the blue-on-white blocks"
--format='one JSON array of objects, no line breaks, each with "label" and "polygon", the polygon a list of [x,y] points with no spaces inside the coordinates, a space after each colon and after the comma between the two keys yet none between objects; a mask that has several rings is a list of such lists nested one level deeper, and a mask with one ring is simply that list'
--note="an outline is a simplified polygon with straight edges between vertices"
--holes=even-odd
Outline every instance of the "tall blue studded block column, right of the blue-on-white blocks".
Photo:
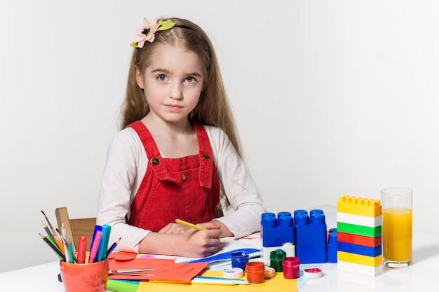
[{"label": "tall blue studded block column, right of the blue-on-white blocks", "polygon": [[303,211],[295,214],[296,256],[300,263],[327,262],[327,233],[325,214],[313,210],[311,215]]}]

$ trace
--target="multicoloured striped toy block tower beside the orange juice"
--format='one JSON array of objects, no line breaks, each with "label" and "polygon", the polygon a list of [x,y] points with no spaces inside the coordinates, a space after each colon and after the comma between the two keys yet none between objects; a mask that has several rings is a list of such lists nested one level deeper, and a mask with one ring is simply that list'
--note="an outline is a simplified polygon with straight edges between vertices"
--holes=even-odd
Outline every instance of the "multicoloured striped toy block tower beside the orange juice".
[{"label": "multicoloured striped toy block tower beside the orange juice", "polygon": [[337,202],[338,270],[377,276],[383,271],[379,200],[343,195]]}]

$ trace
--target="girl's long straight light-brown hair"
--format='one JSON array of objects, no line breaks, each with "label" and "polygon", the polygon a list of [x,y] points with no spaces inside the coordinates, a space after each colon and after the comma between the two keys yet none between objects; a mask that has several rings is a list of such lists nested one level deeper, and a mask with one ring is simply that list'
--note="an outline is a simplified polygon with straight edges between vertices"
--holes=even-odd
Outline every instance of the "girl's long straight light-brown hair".
[{"label": "girl's long straight light-brown hair", "polygon": [[195,109],[189,113],[189,120],[203,125],[219,127],[229,137],[238,155],[242,158],[241,141],[227,98],[215,50],[207,34],[189,20],[170,18],[175,22],[172,29],[156,32],[152,43],[146,41],[143,48],[135,48],[131,57],[126,98],[122,106],[121,129],[142,119],[149,113],[144,92],[136,82],[136,69],[146,69],[153,48],[159,44],[183,46],[196,53],[205,68],[205,84]]}]

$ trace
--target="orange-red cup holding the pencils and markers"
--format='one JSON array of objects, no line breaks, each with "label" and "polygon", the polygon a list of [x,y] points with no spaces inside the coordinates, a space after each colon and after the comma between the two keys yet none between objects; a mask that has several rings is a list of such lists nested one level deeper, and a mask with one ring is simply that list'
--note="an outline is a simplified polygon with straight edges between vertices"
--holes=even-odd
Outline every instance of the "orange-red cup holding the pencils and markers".
[{"label": "orange-red cup holding the pencils and markers", "polygon": [[60,262],[61,279],[65,292],[105,292],[107,291],[108,260],[96,263]]}]

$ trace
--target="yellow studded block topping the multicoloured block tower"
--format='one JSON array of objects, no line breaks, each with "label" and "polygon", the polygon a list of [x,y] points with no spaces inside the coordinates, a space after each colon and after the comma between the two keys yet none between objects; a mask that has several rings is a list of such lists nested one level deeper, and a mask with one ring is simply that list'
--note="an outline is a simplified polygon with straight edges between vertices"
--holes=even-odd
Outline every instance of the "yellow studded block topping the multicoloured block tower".
[{"label": "yellow studded block topping the multicoloured block tower", "polygon": [[381,203],[365,197],[342,195],[337,202],[337,212],[376,217],[381,215]]}]

